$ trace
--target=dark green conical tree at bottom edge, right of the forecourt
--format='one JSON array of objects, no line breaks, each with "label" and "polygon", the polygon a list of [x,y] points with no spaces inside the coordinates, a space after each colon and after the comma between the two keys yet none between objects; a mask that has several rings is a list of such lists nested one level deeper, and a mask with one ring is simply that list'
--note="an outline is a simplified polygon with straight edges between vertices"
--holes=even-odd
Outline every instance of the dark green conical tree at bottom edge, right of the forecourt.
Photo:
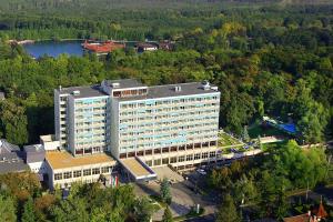
[{"label": "dark green conical tree at bottom edge, right of the forecourt", "polygon": [[230,194],[224,195],[220,205],[216,222],[240,222],[240,216]]}]

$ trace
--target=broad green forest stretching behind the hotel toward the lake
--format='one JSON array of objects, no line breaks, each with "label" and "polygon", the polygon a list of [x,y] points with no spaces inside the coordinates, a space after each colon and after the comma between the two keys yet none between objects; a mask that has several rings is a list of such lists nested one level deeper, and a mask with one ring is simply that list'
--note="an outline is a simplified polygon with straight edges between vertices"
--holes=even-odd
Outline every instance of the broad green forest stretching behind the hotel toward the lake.
[{"label": "broad green forest stretching behind the hotel toward the lake", "polygon": [[[87,32],[91,29],[69,17],[50,20],[37,16],[36,20],[26,20],[33,16],[9,16],[8,21],[12,22],[1,22],[1,27],[13,27],[0,31],[0,90],[7,94],[0,103],[2,137],[26,144],[37,142],[40,134],[53,133],[52,95],[59,85],[137,78],[150,85],[202,80],[216,84],[221,91],[220,123],[226,131],[241,134],[243,125],[271,115],[292,118],[301,141],[313,143],[332,138],[333,6],[216,8],[210,17],[195,7],[188,10],[192,11],[189,17],[208,24],[188,24],[180,31],[170,23],[171,32],[165,34],[162,28],[153,30],[154,24],[149,23],[151,31],[142,32],[144,38],[175,40],[173,51],[138,54],[119,50],[103,58],[63,54],[38,60],[7,40],[16,39],[17,33],[43,31],[78,38],[59,30],[62,20],[68,23],[62,23],[63,30],[72,30],[71,26]],[[139,18],[154,20],[145,18],[145,13],[142,11]],[[168,16],[160,17],[169,21]],[[173,18],[180,26],[186,23],[183,17]],[[100,24],[103,27],[103,22]],[[108,36],[101,27],[92,24]]]}]

